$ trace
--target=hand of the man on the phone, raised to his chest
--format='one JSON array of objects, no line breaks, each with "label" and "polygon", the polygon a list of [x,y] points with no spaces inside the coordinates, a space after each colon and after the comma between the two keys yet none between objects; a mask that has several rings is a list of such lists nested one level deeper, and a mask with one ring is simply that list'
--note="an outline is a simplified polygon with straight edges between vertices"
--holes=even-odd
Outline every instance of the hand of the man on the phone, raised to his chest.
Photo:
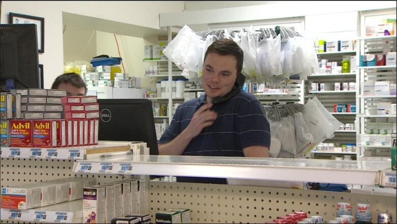
[{"label": "hand of the man on the phone, raised to his chest", "polygon": [[203,128],[211,126],[214,123],[217,113],[210,110],[212,105],[213,103],[207,103],[194,113],[189,125],[184,130],[189,137],[194,138],[201,133]]}]

